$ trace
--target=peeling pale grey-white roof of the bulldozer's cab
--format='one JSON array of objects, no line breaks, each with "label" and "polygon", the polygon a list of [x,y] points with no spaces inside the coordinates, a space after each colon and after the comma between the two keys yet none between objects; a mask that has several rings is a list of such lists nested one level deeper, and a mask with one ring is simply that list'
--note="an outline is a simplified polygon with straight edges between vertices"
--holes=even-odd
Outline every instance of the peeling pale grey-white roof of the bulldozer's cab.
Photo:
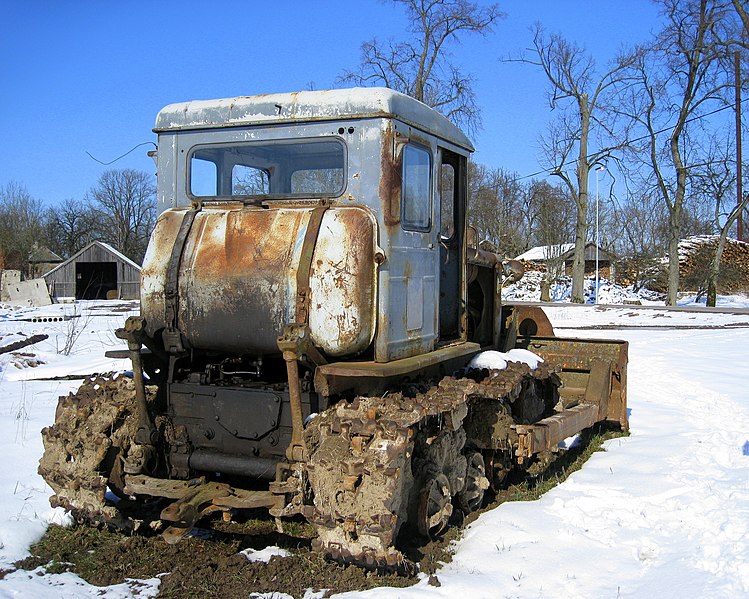
[{"label": "peeling pale grey-white roof of the bulldozer's cab", "polygon": [[170,104],[156,117],[157,133],[276,123],[392,117],[469,152],[471,140],[426,104],[384,87],[303,91]]}]

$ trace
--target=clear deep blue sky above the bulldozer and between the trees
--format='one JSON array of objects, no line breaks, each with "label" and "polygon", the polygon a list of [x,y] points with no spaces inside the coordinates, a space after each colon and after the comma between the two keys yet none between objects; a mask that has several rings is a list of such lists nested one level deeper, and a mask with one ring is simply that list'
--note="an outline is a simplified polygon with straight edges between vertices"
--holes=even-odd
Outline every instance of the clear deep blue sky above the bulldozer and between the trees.
[{"label": "clear deep blue sky above the bulldozer and between the trees", "polygon": [[[501,62],[528,47],[536,21],[586,46],[603,66],[657,28],[649,0],[511,0],[486,38],[453,58],[476,78],[483,130],[476,160],[527,175],[552,118],[534,67]],[[156,113],[192,99],[326,89],[360,45],[404,35],[403,11],[377,0],[98,2],[0,0],[0,185],[54,205],[82,198],[107,168],[152,172]]]}]

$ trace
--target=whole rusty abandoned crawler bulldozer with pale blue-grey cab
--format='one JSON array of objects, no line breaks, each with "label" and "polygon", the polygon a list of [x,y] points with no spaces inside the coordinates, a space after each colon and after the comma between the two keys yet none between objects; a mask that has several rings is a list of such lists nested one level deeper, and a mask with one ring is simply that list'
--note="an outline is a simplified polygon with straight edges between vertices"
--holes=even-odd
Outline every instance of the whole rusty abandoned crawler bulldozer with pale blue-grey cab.
[{"label": "whole rusty abandoned crawler bulldozer with pale blue-grey cab", "polygon": [[155,131],[160,216],[117,331],[132,377],[60,399],[53,505],[125,526],[156,505],[168,542],[265,508],[392,566],[399,535],[439,535],[597,422],[626,428],[626,343],[502,305],[522,273],[478,249],[473,147],[434,110],[310,91],[170,105]]}]

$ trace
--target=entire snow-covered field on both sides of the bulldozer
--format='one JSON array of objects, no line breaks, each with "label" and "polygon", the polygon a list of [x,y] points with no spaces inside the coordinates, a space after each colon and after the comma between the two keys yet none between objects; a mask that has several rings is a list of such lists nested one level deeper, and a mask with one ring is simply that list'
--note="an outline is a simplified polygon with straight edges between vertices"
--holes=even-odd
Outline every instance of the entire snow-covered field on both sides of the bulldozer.
[{"label": "entire snow-covered field on both sides of the bulldozer", "polygon": [[[78,383],[42,379],[126,369],[103,352],[124,347],[112,331],[136,309],[123,302],[0,306],[0,347],[49,335],[18,352],[33,356],[0,354],[0,569],[27,555],[49,522],[64,521],[36,474],[39,431],[52,423],[58,395]],[[441,586],[424,579],[342,596],[749,596],[749,312],[546,310],[560,335],[630,342],[631,436],[610,441],[540,500],[483,514],[438,572]],[[147,597],[157,585],[100,589],[72,574],[16,571],[0,580],[0,597]]]}]

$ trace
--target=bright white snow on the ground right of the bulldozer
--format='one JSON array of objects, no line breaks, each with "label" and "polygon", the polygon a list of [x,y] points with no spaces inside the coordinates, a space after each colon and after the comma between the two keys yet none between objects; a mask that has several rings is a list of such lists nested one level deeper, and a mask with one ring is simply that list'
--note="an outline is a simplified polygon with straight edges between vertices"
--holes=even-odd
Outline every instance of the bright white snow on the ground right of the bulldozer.
[{"label": "bright white snow on the ground right of the bulldozer", "polygon": [[[749,594],[749,314],[550,307],[558,334],[630,342],[631,436],[540,500],[483,514],[438,574],[362,597]],[[627,313],[631,316],[627,316]],[[708,316],[708,315],[705,315]],[[584,330],[592,323],[623,330]],[[639,327],[658,328],[639,328]]]}]

